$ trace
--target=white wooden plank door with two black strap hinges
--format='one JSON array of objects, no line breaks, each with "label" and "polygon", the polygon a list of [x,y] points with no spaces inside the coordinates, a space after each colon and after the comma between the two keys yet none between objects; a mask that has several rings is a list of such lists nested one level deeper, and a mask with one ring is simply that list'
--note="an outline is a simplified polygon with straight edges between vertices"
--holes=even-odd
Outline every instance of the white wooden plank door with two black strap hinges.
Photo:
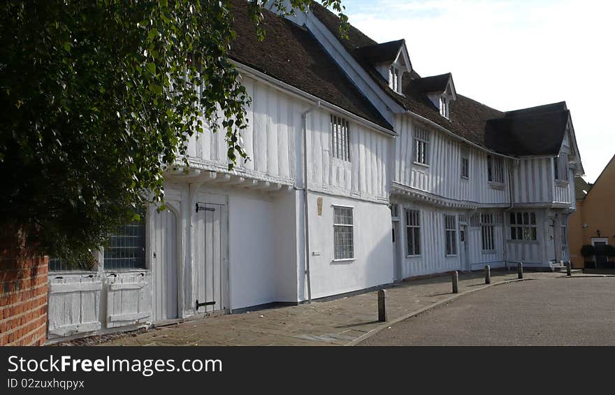
[{"label": "white wooden plank door with two black strap hinges", "polygon": [[196,213],[196,301],[197,313],[228,310],[228,265],[226,206],[198,203]]}]

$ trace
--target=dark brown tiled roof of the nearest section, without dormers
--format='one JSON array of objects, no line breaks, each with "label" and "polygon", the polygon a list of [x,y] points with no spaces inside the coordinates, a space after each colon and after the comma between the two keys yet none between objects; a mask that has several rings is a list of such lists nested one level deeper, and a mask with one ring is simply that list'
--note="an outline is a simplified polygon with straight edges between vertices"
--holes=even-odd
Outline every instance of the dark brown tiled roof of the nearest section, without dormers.
[{"label": "dark brown tiled roof of the nearest section, without dormers", "polygon": [[263,10],[266,35],[259,41],[254,22],[247,17],[248,6],[247,1],[233,0],[236,39],[231,59],[393,130],[310,31]]}]

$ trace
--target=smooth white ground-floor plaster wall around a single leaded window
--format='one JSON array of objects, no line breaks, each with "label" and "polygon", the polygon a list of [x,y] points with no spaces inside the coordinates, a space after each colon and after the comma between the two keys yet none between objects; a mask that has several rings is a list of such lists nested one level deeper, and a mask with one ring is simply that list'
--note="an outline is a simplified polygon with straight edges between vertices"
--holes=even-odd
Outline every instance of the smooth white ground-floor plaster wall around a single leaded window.
[{"label": "smooth white ground-floor plaster wall around a single leaded window", "polygon": [[[321,197],[322,215],[317,215]],[[391,213],[386,204],[310,193],[310,271],[312,299],[393,282]],[[333,205],[352,206],[354,257],[333,261]],[[314,252],[319,255],[314,256]]]}]

